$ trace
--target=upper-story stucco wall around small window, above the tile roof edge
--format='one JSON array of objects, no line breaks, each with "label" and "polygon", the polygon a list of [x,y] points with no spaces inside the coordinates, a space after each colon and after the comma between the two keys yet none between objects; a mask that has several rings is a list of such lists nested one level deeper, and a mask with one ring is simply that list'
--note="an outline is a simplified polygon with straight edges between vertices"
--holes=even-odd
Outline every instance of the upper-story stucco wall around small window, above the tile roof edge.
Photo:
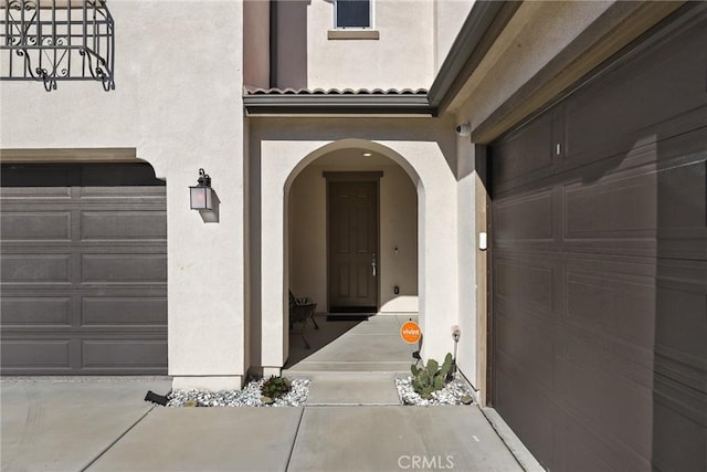
[{"label": "upper-story stucco wall around small window, above the tile roof edge", "polygon": [[[330,0],[281,1],[277,86],[420,88],[433,78],[433,1],[376,0],[378,40],[329,40]],[[303,50],[304,48],[304,50]]]}]

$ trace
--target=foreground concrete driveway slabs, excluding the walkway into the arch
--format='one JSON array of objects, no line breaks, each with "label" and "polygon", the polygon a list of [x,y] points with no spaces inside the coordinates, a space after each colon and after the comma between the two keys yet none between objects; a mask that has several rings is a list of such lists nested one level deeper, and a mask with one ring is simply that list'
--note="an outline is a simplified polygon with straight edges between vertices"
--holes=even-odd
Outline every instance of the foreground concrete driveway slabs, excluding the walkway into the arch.
[{"label": "foreground concrete driveway slabs, excluding the walkway into the arch", "polygon": [[3,471],[523,470],[475,406],[143,400],[148,389],[167,392],[168,379],[3,379],[0,388]]}]

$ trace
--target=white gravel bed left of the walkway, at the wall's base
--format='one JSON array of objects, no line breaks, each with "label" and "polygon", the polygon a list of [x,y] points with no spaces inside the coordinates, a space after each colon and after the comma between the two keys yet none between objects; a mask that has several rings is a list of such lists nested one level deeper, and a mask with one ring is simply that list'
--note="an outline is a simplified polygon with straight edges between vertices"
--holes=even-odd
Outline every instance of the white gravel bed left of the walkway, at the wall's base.
[{"label": "white gravel bed left of the walkway, at the wall's base", "polygon": [[205,391],[173,390],[169,394],[168,407],[303,407],[307,402],[307,379],[293,379],[288,394],[272,403],[263,402],[261,386],[265,379],[251,380],[242,390]]}]

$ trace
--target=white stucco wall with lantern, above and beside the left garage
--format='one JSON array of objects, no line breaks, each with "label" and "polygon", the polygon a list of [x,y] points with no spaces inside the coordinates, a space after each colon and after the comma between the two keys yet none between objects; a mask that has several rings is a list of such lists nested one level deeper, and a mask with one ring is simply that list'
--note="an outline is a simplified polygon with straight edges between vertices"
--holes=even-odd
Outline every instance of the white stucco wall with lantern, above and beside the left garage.
[{"label": "white stucco wall with lantern, above and beside the left garage", "polygon": [[[0,83],[2,148],[135,148],[167,181],[169,374],[176,387],[241,386],[244,199],[240,1],[112,0],[116,90]],[[189,209],[203,167],[220,222]]]}]

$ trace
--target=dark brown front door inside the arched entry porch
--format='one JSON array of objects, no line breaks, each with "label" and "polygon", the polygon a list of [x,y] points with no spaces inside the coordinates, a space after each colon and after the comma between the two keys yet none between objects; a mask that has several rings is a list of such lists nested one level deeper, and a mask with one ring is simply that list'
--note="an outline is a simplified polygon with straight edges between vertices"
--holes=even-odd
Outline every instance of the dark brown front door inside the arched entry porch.
[{"label": "dark brown front door inside the arched entry porch", "polygon": [[378,307],[378,182],[329,182],[329,311]]}]

